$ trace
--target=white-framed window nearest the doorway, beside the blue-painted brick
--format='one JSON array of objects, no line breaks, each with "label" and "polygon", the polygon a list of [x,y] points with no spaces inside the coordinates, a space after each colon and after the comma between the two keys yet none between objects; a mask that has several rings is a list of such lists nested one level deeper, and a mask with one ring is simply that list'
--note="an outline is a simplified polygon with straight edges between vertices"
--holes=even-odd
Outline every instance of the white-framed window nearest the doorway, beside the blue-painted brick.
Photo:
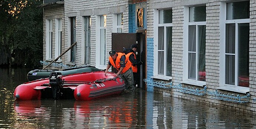
[{"label": "white-framed window nearest the doorway, beside the blue-painted brick", "polygon": [[157,74],[171,76],[172,10],[158,11]]}]

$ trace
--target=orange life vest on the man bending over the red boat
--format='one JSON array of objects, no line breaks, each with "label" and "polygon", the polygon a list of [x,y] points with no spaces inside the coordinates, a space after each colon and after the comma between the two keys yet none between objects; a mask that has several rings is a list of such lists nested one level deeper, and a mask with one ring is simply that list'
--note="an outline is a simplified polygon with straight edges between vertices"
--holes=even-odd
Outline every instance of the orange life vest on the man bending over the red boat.
[{"label": "orange life vest on the man bending over the red boat", "polygon": [[[119,71],[121,65],[120,65],[120,59],[121,59],[121,56],[122,55],[125,55],[124,53],[120,53],[120,52],[117,52],[117,57],[116,57],[116,61],[114,62],[114,60],[112,59],[111,56],[109,56],[109,62],[111,63],[111,65]],[[125,73],[128,69],[130,69],[132,63],[130,62],[130,60],[125,57],[125,67],[124,69],[122,70],[121,73]]]}]

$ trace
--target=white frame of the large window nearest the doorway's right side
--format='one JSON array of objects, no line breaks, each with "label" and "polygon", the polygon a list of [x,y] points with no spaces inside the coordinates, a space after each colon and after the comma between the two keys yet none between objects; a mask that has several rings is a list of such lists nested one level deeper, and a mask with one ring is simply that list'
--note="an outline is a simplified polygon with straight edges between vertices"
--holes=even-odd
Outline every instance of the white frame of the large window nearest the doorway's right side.
[{"label": "white frame of the large window nearest the doorway's right side", "polygon": [[[154,9],[154,71],[153,77],[155,79],[162,79],[162,80],[171,80],[171,76],[166,76],[166,69],[167,69],[167,43],[166,43],[166,28],[173,27],[173,23],[159,23],[159,10],[161,9]],[[164,27],[164,75],[158,74],[158,27]]]}]

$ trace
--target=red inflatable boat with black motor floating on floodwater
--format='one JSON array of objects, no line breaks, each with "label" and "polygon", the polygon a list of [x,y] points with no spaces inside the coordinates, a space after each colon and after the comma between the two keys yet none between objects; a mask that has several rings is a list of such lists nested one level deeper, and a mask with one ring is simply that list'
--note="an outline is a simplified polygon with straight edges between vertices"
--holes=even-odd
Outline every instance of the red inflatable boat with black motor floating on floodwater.
[{"label": "red inflatable boat with black motor floating on floodwater", "polygon": [[104,71],[78,73],[62,76],[59,72],[50,73],[49,78],[29,81],[14,90],[15,100],[35,100],[41,98],[92,100],[121,94],[124,81],[114,73]]}]

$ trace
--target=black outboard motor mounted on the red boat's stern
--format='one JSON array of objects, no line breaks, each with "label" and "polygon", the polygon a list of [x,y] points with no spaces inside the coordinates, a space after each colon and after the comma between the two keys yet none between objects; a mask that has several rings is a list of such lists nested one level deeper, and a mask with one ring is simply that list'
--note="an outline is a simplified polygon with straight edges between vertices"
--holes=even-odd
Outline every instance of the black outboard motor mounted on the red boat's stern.
[{"label": "black outboard motor mounted on the red boat's stern", "polygon": [[49,77],[49,84],[52,87],[53,100],[58,100],[60,95],[60,88],[63,87],[62,74],[60,72],[51,72]]}]

